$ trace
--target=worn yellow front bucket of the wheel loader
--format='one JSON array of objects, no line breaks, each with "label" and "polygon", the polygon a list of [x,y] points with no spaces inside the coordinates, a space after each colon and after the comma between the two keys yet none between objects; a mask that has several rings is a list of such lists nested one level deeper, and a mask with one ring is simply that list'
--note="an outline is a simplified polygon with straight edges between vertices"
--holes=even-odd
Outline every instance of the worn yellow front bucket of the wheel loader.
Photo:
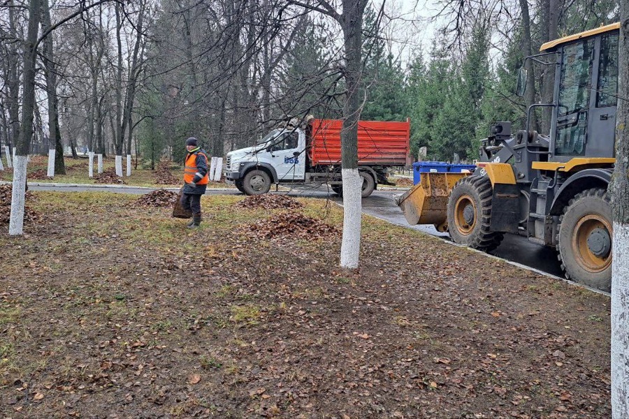
[{"label": "worn yellow front bucket of the wheel loader", "polygon": [[419,183],[396,198],[406,221],[415,224],[434,224],[439,231],[447,230],[448,197],[454,184],[470,173],[421,173]]}]

